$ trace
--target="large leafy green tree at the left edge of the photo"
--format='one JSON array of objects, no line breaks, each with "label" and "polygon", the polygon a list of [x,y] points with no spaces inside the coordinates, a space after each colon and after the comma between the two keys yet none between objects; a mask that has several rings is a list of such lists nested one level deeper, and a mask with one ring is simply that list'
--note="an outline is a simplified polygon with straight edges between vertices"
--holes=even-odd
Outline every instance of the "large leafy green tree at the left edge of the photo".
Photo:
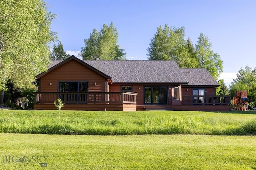
[{"label": "large leafy green tree at the left edge of the photo", "polygon": [[[0,1],[0,92],[6,81],[15,86],[31,84],[34,77],[47,70],[49,43],[55,34],[50,25],[55,15],[47,12],[43,0]],[[0,104],[2,104],[0,101]]]}]

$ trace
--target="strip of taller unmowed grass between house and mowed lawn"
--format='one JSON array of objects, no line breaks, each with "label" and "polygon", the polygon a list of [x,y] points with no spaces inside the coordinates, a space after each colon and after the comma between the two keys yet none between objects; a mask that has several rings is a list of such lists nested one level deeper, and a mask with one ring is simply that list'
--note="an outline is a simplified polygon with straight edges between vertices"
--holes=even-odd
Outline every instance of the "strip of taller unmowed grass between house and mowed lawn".
[{"label": "strip of taller unmowed grass between house and mowed lawn", "polygon": [[256,135],[256,111],[1,110],[0,133]]}]

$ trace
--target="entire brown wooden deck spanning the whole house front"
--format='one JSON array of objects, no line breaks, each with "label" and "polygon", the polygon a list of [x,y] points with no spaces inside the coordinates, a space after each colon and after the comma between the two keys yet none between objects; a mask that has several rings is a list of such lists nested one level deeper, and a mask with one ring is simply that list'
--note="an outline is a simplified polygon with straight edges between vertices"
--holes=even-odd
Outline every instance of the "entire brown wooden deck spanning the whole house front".
[{"label": "entire brown wooden deck spanning the whole house front", "polygon": [[54,110],[61,98],[63,110],[93,111],[230,111],[230,96],[182,96],[181,105],[136,105],[136,93],[130,92],[36,92],[34,110]]}]

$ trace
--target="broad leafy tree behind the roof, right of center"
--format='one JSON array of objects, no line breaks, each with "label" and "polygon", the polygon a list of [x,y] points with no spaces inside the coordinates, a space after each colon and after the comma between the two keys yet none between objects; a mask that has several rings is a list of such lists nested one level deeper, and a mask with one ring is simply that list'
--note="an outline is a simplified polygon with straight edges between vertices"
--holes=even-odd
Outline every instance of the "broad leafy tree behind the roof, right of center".
[{"label": "broad leafy tree behind the roof, right of center", "polygon": [[[180,67],[195,67],[196,61],[190,56],[188,45],[184,39],[185,28],[160,25],[148,47],[149,60],[176,60]],[[192,45],[192,44],[191,44]]]}]

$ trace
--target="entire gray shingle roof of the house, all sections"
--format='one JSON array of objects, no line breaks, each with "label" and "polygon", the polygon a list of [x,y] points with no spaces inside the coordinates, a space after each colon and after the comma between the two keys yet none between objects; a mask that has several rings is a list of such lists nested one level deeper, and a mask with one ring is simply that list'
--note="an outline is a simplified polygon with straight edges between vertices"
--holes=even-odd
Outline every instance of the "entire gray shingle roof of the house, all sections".
[{"label": "entire gray shingle roof of the house, all sections", "polygon": [[[48,68],[62,62],[54,60]],[[96,60],[84,60],[96,68]],[[172,83],[190,86],[218,86],[205,68],[180,68],[176,61],[99,60],[99,70],[114,83]]]}]

